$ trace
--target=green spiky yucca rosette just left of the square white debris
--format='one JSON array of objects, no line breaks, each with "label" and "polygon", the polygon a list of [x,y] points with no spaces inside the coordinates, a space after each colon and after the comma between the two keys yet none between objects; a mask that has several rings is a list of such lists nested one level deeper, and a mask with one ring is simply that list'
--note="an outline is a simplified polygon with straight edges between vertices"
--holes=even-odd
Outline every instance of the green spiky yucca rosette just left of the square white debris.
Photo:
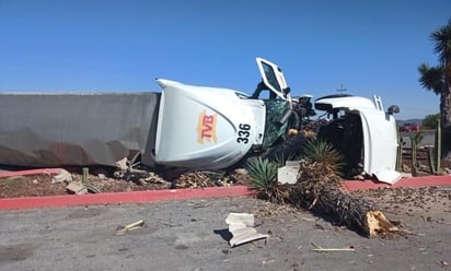
[{"label": "green spiky yucca rosette just left of the square white debris", "polygon": [[271,162],[262,157],[247,160],[247,173],[252,180],[250,188],[256,190],[258,196],[275,203],[284,203],[288,198],[288,191],[277,181],[277,172],[281,160]]}]

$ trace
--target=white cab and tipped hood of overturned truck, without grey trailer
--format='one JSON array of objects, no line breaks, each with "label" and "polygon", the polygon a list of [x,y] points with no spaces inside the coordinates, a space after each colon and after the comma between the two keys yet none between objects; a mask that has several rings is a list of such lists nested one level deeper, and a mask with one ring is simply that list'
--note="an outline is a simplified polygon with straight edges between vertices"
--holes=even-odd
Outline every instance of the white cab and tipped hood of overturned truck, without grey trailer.
[{"label": "white cab and tipped hood of overturned truck, without grey trailer", "polygon": [[[256,58],[262,82],[254,94],[219,87],[186,85],[159,79],[163,89],[154,146],[162,165],[227,168],[250,152],[287,140],[287,119],[292,113],[290,89],[281,69]],[[269,91],[269,98],[259,93]],[[380,98],[332,95],[315,101],[315,109],[332,116],[319,134],[345,153],[349,166],[360,164],[365,173],[393,184],[397,133],[391,113]]]}]

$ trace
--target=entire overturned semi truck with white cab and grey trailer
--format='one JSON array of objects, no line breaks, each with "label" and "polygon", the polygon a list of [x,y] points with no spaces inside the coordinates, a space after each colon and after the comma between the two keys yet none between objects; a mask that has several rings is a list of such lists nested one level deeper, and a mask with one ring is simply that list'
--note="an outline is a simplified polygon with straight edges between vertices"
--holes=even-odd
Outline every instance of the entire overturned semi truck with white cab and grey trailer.
[{"label": "entire overturned semi truck with white cab and grey trailer", "polygon": [[[256,62],[262,82],[254,95],[165,79],[157,80],[161,92],[0,93],[0,165],[114,166],[139,156],[152,168],[231,167],[286,143],[287,131],[314,115],[310,96],[291,98],[277,64]],[[349,163],[381,181],[401,178],[396,106],[384,111],[380,97],[331,95],[315,99],[314,109],[325,116],[319,137]]]}]

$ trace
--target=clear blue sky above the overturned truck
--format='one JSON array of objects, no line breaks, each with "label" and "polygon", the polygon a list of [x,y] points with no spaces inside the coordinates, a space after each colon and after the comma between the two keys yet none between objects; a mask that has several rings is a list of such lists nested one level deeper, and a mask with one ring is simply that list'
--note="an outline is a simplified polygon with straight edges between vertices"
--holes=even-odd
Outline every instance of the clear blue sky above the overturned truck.
[{"label": "clear blue sky above the overturned truck", "polygon": [[0,91],[160,92],[155,79],[252,94],[255,58],[292,95],[379,95],[439,111],[418,83],[450,0],[0,0]]}]

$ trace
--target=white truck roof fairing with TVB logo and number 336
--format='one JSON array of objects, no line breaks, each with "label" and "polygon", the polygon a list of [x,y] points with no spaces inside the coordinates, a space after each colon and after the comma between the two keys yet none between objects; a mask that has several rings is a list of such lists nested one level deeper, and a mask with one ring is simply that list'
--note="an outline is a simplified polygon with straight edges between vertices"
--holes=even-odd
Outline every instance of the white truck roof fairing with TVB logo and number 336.
[{"label": "white truck roof fairing with TVB logo and number 336", "polygon": [[163,89],[155,161],[186,168],[226,168],[262,144],[265,106],[236,91],[159,79]]}]

